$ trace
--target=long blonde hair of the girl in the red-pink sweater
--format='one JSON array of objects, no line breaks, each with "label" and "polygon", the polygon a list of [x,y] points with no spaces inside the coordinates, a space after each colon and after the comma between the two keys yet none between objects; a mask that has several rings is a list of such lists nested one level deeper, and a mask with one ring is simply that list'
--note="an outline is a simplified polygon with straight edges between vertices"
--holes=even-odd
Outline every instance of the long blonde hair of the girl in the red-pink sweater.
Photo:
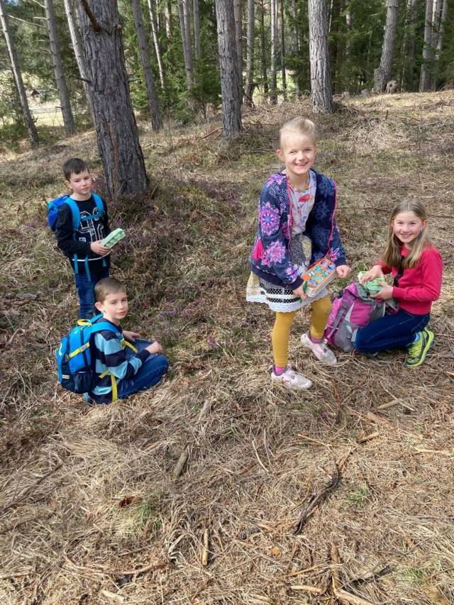
[{"label": "long blonde hair of the girl in the red-pink sweater", "polygon": [[404,260],[402,261],[402,255],[400,253],[402,242],[394,234],[393,221],[394,218],[401,212],[414,212],[421,221],[427,220],[426,209],[421,204],[419,199],[409,198],[404,199],[394,207],[391,218],[389,219],[388,226],[388,238],[386,249],[384,250],[383,262],[387,267],[399,267],[402,262],[402,267],[414,267],[419,261],[424,248],[428,248],[431,245],[431,240],[427,237],[427,228],[423,227],[418,235],[418,238],[414,240],[413,247]]}]

